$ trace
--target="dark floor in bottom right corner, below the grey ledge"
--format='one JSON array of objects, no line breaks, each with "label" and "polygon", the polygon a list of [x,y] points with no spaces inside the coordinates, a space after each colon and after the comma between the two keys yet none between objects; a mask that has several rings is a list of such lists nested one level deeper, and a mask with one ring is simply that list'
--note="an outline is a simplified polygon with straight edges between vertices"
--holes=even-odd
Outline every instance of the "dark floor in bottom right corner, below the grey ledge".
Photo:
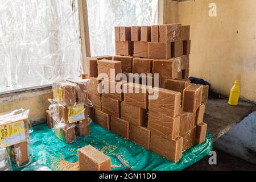
[{"label": "dark floor in bottom right corner, below the grey ledge", "polygon": [[209,157],[185,169],[185,171],[256,171],[256,165],[214,149],[217,152],[217,165],[210,165]]}]

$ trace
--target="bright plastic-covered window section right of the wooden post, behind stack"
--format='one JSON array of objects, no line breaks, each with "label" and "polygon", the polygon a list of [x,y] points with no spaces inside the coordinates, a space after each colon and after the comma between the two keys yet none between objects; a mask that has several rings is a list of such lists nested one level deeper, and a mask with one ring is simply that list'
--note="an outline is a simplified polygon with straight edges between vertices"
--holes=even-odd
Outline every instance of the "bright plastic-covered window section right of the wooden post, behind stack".
[{"label": "bright plastic-covered window section right of the wooden post, behind stack", "polygon": [[87,0],[92,56],[114,55],[114,26],[158,24],[158,0]]}]

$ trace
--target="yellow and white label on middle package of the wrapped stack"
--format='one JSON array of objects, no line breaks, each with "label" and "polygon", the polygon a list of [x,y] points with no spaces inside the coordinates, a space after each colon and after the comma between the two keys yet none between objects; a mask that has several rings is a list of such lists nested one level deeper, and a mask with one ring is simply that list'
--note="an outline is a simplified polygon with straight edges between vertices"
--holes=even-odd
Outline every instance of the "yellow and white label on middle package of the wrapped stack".
[{"label": "yellow and white label on middle package of the wrapped stack", "polygon": [[84,104],[77,104],[75,106],[68,107],[68,122],[75,123],[85,119],[85,107]]}]

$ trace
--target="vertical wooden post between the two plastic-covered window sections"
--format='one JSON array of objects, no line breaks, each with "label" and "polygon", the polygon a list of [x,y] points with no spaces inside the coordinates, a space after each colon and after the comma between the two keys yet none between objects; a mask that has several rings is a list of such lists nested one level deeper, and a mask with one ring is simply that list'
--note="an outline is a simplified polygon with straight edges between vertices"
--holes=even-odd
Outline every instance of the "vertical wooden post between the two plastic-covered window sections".
[{"label": "vertical wooden post between the two plastic-covered window sections", "polygon": [[78,0],[79,6],[79,21],[80,21],[80,39],[82,50],[82,68],[83,73],[86,73],[86,57],[90,57],[90,36],[88,23],[88,9],[86,0]]}]

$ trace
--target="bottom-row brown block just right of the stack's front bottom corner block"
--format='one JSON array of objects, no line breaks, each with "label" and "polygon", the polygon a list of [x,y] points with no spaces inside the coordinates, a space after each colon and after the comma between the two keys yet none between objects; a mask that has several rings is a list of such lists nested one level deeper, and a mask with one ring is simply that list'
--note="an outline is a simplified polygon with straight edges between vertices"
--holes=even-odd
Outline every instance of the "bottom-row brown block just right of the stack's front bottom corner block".
[{"label": "bottom-row brown block just right of the stack's front bottom corner block", "polygon": [[193,147],[196,143],[196,126],[192,130],[187,131],[187,133],[181,135],[183,138],[183,152],[187,151],[189,148]]}]

